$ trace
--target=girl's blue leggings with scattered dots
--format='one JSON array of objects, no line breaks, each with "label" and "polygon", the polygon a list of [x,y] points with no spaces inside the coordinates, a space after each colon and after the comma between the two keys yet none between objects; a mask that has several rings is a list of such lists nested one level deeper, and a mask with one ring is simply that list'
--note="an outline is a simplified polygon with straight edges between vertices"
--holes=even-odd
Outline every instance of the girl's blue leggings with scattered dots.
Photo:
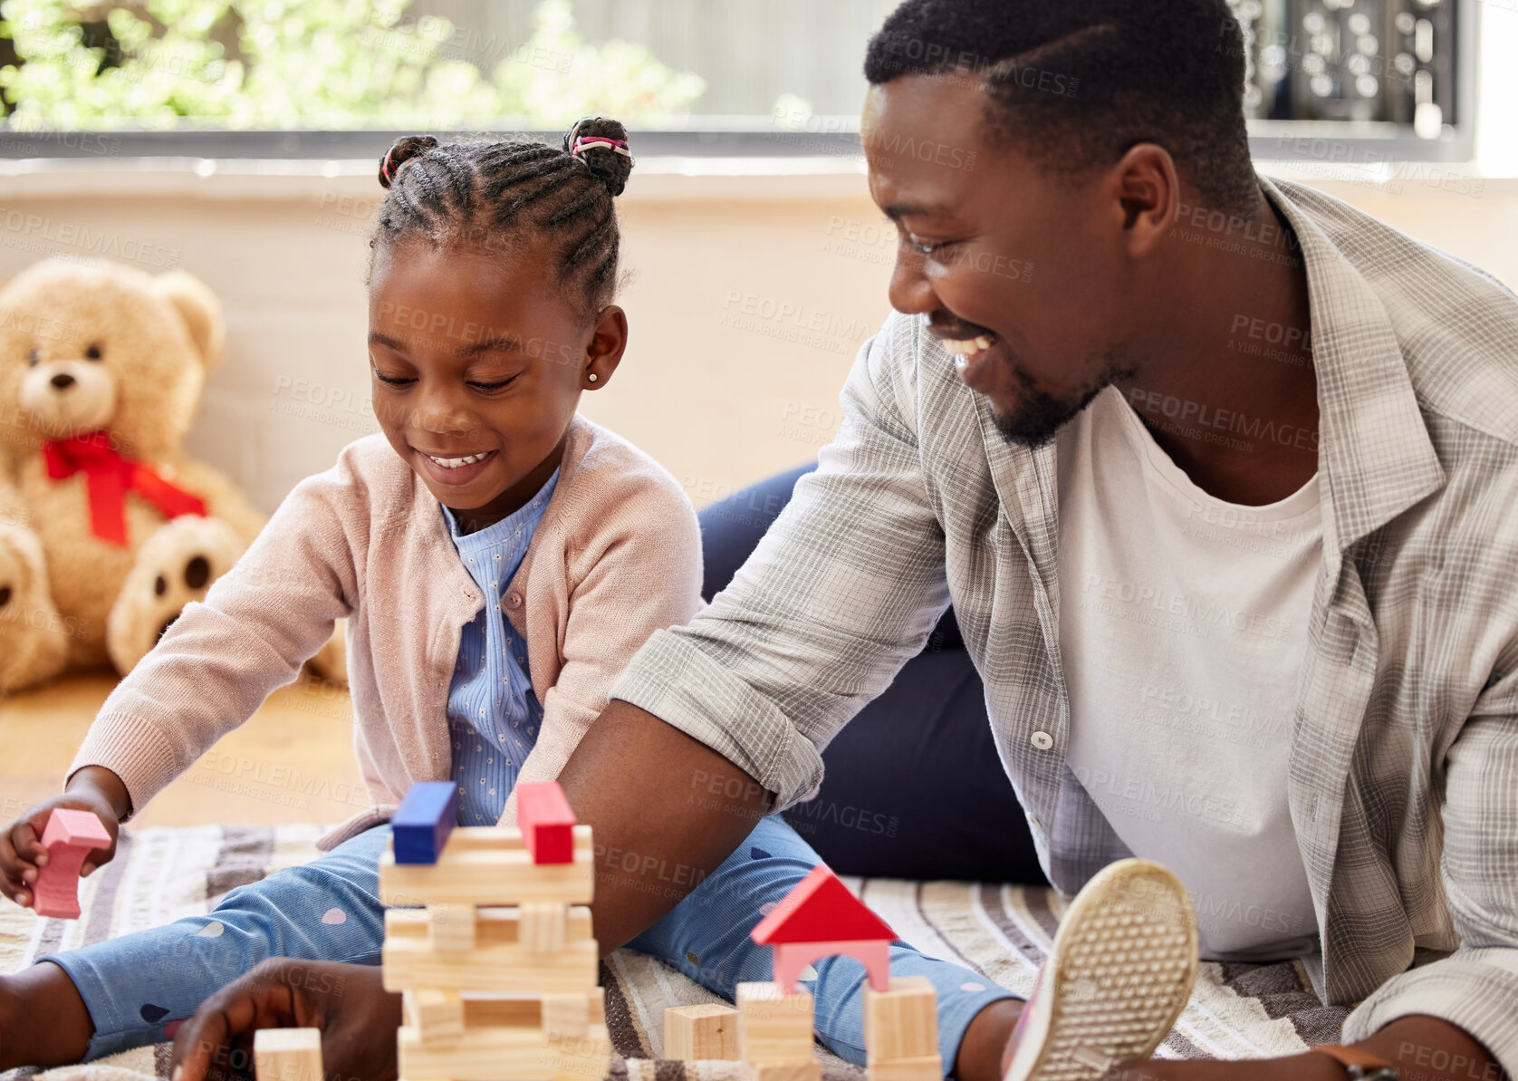
[{"label": "girl's blue leggings with scattered dots", "polygon": [[[87,1060],[158,1043],[164,1028],[188,1017],[223,985],[270,957],[380,964],[384,905],[380,853],[389,826],[376,826],[326,856],[276,871],[226,894],[209,916],[123,935],[46,958],[79,988],[94,1037]],[[818,862],[779,817],[764,818],[748,840],[659,923],[628,943],[732,999],[744,981],[770,979],[770,950],[748,932]],[[864,967],[827,958],[803,979],[817,1004],[817,1034],[850,1063],[864,1063]],[[927,976],[938,990],[938,1051],[953,1069],[970,1020],[997,999],[1014,997],[984,976],[891,947],[893,976]]]}]

